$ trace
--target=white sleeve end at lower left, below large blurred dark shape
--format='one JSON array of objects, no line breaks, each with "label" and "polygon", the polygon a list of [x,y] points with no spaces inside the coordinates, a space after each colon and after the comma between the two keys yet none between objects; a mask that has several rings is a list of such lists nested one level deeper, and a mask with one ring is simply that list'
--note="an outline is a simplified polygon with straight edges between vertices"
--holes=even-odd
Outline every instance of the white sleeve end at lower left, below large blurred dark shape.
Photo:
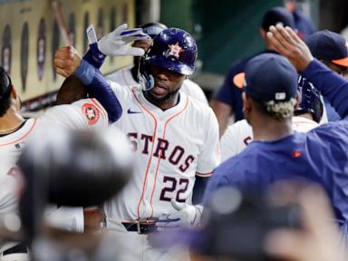
[{"label": "white sleeve end at lower left, below large blurred dark shape", "polygon": [[49,207],[45,210],[45,221],[52,227],[70,232],[84,230],[83,208]]}]

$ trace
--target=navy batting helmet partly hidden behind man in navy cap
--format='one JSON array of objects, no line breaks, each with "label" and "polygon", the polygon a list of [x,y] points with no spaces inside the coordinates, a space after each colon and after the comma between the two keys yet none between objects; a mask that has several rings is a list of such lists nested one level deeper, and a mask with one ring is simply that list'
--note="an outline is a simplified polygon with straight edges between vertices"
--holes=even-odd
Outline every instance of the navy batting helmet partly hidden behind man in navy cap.
[{"label": "navy batting helmet partly hidden behind man in navy cap", "polygon": [[295,110],[295,115],[311,113],[313,120],[319,122],[323,116],[323,103],[320,99],[320,92],[314,88],[311,82],[304,77],[298,78],[298,91],[301,93],[301,102]]}]

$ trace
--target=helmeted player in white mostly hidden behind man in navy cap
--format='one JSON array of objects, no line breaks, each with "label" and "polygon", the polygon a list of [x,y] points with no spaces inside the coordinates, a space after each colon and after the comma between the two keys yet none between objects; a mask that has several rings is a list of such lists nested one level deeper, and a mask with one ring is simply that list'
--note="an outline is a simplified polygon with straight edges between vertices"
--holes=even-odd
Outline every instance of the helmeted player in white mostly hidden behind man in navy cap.
[{"label": "helmeted player in white mostly hidden behind man in navy cap", "polygon": [[[243,82],[237,82],[237,79],[238,77],[235,77],[235,85],[242,88]],[[299,76],[298,79],[298,91],[300,92],[301,102],[295,109],[294,114],[296,116],[292,118],[293,129],[295,132],[311,131],[319,125],[323,116],[321,96],[313,84],[306,81],[302,76]],[[237,121],[228,126],[220,140],[221,161],[237,155],[251,141],[253,141],[253,130],[247,120]]]}]

